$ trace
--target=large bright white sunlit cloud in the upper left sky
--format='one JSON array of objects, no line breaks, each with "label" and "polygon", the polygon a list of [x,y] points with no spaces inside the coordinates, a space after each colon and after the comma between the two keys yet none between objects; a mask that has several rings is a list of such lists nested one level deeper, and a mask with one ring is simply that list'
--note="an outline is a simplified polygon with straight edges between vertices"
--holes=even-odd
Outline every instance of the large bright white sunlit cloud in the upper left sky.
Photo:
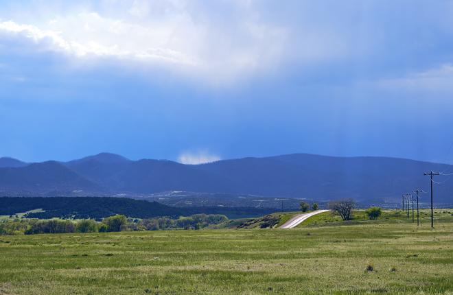
[{"label": "large bright white sunlit cloud in the upper left sky", "polygon": [[191,78],[224,83],[275,67],[284,56],[286,29],[266,23],[248,5],[227,23],[190,9],[187,1],[138,1],[122,13],[71,12],[47,21],[0,22],[0,34],[77,59],[113,58]]}]

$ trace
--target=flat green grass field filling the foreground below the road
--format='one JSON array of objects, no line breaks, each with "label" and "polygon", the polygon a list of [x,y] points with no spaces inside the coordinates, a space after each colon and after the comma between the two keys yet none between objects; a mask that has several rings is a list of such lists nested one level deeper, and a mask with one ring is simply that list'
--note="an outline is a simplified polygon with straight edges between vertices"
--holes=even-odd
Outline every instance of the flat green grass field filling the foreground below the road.
[{"label": "flat green grass field filling the foreground below the road", "polygon": [[451,214],[328,224],[0,236],[0,294],[453,294]]}]

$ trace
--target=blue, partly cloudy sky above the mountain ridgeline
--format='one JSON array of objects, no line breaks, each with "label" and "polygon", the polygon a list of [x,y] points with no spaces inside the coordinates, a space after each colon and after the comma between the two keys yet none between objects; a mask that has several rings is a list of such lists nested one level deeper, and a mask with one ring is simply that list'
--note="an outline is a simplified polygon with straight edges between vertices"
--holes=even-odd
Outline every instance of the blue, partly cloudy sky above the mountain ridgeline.
[{"label": "blue, partly cloudy sky above the mountain ridgeline", "polygon": [[0,156],[453,163],[453,1],[0,0]]}]

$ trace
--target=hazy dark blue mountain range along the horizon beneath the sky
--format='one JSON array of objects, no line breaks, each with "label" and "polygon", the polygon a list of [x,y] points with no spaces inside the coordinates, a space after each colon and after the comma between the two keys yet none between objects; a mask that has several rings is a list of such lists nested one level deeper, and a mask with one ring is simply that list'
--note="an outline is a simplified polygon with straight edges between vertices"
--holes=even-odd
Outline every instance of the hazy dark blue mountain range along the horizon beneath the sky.
[{"label": "hazy dark blue mountain range along the horizon beneath the sky", "polygon": [[[0,158],[2,196],[144,196],[163,191],[254,194],[270,197],[399,202],[402,193],[430,182],[423,172],[452,165],[386,157],[288,154],[200,165],[131,161],[101,153],[69,162],[23,163]],[[453,179],[438,176],[436,201],[453,203]],[[424,194],[423,198],[427,198]]]}]

